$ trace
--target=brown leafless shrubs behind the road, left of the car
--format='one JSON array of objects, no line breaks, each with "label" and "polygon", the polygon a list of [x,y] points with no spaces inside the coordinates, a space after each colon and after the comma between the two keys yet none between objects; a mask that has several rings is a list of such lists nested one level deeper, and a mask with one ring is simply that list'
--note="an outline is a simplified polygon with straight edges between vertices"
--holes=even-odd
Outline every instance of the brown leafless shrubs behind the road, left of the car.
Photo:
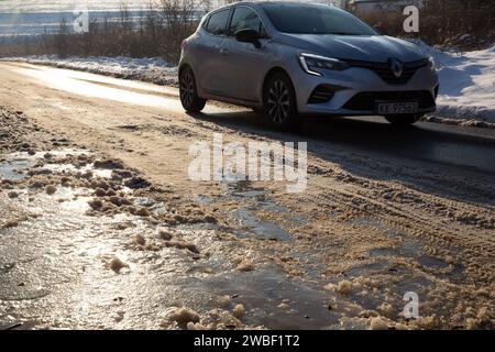
[{"label": "brown leafless shrubs behind the road, left of the car", "polygon": [[198,11],[209,6],[209,0],[150,1],[145,16],[136,22],[132,11],[122,4],[117,18],[106,18],[100,22],[91,20],[87,33],[70,33],[70,24],[64,20],[56,33],[46,33],[37,41],[16,38],[12,41],[15,44],[1,45],[0,56],[163,57],[177,63],[182,41],[198,25]]}]

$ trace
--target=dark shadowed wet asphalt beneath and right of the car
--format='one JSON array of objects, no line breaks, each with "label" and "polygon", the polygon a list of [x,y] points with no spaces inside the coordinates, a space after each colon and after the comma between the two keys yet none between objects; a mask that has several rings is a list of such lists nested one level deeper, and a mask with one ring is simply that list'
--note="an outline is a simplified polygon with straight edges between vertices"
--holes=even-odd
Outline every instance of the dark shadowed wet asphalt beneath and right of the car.
[{"label": "dark shadowed wet asphalt beneath and right of the car", "polygon": [[[254,112],[200,114],[246,132],[272,135]],[[265,130],[264,130],[265,129]],[[397,129],[381,117],[307,117],[301,130],[284,140],[312,140],[405,160],[431,162],[495,175],[495,130],[419,122]]]}]

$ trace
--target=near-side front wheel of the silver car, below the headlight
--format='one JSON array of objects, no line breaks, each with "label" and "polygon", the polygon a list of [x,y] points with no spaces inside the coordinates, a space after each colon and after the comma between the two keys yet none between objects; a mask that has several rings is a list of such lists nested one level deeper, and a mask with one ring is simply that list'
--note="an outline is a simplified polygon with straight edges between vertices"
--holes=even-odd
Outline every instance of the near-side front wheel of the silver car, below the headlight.
[{"label": "near-side front wheel of the silver car, below the headlight", "polygon": [[276,73],[268,77],[263,90],[263,116],[278,130],[293,130],[299,125],[296,92],[286,74]]}]

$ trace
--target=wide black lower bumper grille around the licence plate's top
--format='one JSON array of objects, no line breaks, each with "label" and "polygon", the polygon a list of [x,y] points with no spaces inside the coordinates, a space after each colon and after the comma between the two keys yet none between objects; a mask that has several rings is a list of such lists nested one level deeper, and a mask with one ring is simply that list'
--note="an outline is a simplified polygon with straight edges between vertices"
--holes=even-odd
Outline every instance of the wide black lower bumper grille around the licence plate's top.
[{"label": "wide black lower bumper grille around the licence plate's top", "polygon": [[359,92],[352,97],[343,108],[348,110],[374,111],[376,101],[417,101],[420,110],[435,108],[433,96],[428,90]]}]

